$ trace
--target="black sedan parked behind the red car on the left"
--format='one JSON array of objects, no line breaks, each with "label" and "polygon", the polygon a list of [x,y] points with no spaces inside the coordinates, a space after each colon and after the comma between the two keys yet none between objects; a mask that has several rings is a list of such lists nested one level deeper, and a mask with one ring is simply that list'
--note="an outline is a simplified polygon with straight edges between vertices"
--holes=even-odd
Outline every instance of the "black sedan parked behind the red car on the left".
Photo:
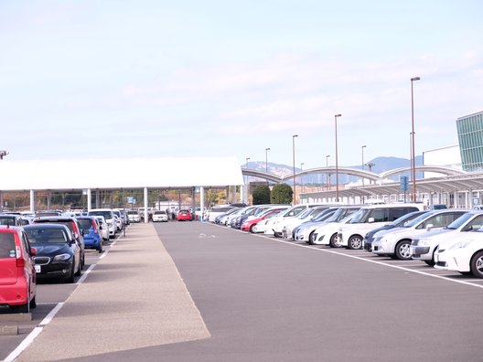
[{"label": "black sedan parked behind the red car on the left", "polygon": [[24,227],[34,257],[38,280],[74,282],[81,275],[81,248],[70,229],[62,224],[32,224]]}]

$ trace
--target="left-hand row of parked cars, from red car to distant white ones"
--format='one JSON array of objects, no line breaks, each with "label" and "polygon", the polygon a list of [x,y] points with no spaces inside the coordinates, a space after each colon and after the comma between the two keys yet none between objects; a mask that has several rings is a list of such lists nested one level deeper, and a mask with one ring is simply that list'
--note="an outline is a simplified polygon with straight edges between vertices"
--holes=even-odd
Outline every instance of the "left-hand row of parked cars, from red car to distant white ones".
[{"label": "left-hand row of parked cars, from red car to distant white ones", "polygon": [[15,312],[36,307],[38,280],[74,282],[84,268],[85,250],[101,253],[102,241],[123,229],[122,218],[110,208],[81,216],[38,215],[25,224],[17,216],[0,215],[7,220],[0,221],[0,305]]}]

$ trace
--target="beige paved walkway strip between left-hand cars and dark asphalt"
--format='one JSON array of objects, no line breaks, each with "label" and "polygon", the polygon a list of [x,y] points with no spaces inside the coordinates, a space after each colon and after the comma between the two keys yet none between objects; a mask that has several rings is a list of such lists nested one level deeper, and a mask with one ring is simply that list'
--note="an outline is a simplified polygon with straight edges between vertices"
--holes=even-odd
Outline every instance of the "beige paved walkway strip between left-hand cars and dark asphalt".
[{"label": "beige paved walkway strip between left-hand cars and dark asphalt", "polygon": [[52,361],[209,338],[152,224],[134,224],[17,361]]}]

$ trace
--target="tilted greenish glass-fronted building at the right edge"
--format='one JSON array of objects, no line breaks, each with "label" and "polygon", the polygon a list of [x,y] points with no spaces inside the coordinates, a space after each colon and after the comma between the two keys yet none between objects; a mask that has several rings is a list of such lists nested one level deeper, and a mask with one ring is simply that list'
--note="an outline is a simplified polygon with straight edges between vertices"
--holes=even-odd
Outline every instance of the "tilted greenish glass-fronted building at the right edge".
[{"label": "tilted greenish glass-fronted building at the right edge", "polygon": [[483,171],[483,112],[456,120],[463,171]]}]

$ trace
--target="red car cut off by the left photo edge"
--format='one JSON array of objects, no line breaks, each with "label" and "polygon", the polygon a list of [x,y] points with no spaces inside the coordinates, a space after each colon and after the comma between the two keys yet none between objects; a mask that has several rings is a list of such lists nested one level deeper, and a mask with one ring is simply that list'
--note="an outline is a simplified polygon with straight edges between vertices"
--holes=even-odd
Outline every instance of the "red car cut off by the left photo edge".
[{"label": "red car cut off by the left photo edge", "polygon": [[35,254],[23,228],[0,227],[0,305],[20,313],[37,306]]}]

